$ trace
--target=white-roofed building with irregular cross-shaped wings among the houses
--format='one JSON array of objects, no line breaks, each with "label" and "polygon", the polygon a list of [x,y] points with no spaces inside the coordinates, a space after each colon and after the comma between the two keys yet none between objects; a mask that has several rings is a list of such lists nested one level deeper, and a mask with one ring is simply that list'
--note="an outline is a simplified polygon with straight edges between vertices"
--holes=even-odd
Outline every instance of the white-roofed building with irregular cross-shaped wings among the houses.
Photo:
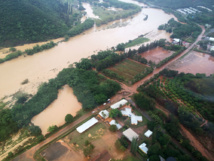
[{"label": "white-roofed building with irregular cross-shaped wings among the houses", "polygon": [[137,125],[138,122],[143,121],[143,117],[142,116],[136,116],[135,114],[133,114],[131,108],[125,108],[125,110],[121,110],[121,113],[123,116],[128,116],[131,118],[131,124],[132,125]]}]

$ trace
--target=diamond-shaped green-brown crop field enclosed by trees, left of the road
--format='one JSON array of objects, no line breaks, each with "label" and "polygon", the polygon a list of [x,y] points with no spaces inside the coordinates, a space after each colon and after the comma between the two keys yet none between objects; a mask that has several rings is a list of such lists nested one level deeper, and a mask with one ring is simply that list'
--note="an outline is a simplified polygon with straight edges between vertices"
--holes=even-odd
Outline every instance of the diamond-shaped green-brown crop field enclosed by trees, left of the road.
[{"label": "diamond-shaped green-brown crop field enclosed by trees, left of the road", "polygon": [[148,68],[146,65],[126,59],[110,68],[110,70],[122,76],[125,79],[125,82],[129,82],[137,74],[144,72],[146,68]]}]

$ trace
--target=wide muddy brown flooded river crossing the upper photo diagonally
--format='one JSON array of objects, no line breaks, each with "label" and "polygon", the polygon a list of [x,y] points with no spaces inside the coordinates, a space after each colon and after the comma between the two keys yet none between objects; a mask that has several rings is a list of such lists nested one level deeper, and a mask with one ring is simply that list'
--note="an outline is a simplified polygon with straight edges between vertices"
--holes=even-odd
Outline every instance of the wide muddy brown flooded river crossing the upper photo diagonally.
[{"label": "wide muddy brown flooded river crossing the upper photo diagonally", "polygon": [[[149,15],[147,21],[143,20],[145,14]],[[173,17],[162,10],[146,8],[133,18],[122,20],[126,21],[125,26],[108,29],[108,25],[95,27],[50,50],[0,64],[0,98],[19,90],[35,94],[42,82],[56,77],[58,72],[67,68],[69,64],[89,57],[99,50],[128,42],[139,35],[149,33],[147,37],[151,41],[160,38],[169,39],[169,34],[158,31],[157,28]],[[29,45],[28,48],[30,48]],[[25,79],[28,79],[29,83],[21,85]]]}]

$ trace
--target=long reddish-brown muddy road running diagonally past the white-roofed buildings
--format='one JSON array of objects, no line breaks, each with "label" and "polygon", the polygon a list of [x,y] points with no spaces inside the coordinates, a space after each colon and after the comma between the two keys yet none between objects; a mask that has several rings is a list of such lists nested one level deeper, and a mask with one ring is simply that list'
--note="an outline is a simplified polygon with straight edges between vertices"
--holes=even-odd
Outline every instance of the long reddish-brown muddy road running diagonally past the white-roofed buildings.
[{"label": "long reddish-brown muddy road running diagonally past the white-roofed buildings", "polygon": [[[171,61],[169,61],[168,63],[166,63],[165,65],[163,65],[160,68],[157,68],[153,71],[153,73],[149,74],[146,78],[142,79],[141,81],[135,83],[133,86],[129,87],[126,86],[125,84],[121,84],[123,90],[130,92],[129,95],[132,95],[133,93],[137,93],[137,88],[142,85],[146,80],[150,79],[151,77],[153,77],[155,74],[159,73],[161,70],[163,70],[164,68],[166,68],[170,63],[178,60],[180,57],[182,57],[183,55],[185,55],[186,53],[188,53],[197,43],[198,41],[201,40],[205,29],[203,26],[201,26],[202,28],[202,32],[201,34],[198,36],[197,40],[191,45],[189,46],[183,53],[181,53],[180,55],[178,55],[177,57],[173,58]],[[128,95],[128,96],[129,96]],[[126,96],[126,97],[128,97]],[[117,100],[119,100],[120,98],[122,98],[122,96],[115,96],[113,97],[113,102],[116,102]],[[98,107],[97,110],[102,109],[101,107]],[[70,125],[66,126],[65,128],[61,129],[60,131],[58,131],[57,133],[53,134],[52,136],[50,136],[49,138],[47,138],[46,140],[44,140],[43,142],[37,144],[36,146],[32,147],[31,149],[27,150],[26,152],[24,152],[23,154],[21,154],[20,156],[16,157],[14,159],[14,161],[32,161],[33,159],[33,155],[36,152],[36,150],[38,150],[39,148],[41,148],[42,146],[44,146],[45,144],[51,142],[52,140],[56,139],[57,137],[59,137],[60,135],[62,135],[63,133],[65,133],[66,131],[68,131],[70,128],[76,126],[77,124],[81,123],[83,120],[85,120],[86,118],[88,118],[89,116],[91,116],[92,113],[87,113],[84,116],[80,117],[78,120],[76,120],[75,122],[71,123]]]}]

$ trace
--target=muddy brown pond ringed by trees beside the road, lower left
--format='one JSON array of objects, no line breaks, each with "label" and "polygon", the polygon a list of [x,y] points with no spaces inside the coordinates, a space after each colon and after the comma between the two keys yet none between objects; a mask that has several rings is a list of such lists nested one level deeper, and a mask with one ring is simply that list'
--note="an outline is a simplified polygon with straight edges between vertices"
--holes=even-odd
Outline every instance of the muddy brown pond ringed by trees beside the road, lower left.
[{"label": "muddy brown pond ringed by trees beside the road, lower left", "polygon": [[34,116],[31,122],[34,123],[34,125],[39,126],[42,130],[42,134],[45,135],[49,126],[63,125],[67,114],[76,116],[76,113],[81,108],[82,105],[73,94],[72,88],[65,85],[59,90],[58,98],[44,111]]}]

